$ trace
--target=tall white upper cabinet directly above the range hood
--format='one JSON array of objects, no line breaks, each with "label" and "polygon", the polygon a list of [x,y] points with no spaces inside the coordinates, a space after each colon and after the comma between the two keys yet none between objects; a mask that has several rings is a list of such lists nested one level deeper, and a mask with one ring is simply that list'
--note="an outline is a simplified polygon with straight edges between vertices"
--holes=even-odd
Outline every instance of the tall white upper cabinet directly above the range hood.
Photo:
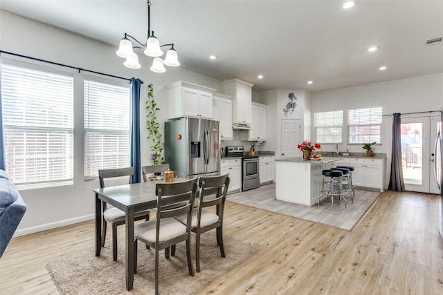
[{"label": "tall white upper cabinet directly above the range hood", "polygon": [[230,79],[223,82],[224,93],[234,97],[233,122],[251,124],[252,86],[240,79]]}]

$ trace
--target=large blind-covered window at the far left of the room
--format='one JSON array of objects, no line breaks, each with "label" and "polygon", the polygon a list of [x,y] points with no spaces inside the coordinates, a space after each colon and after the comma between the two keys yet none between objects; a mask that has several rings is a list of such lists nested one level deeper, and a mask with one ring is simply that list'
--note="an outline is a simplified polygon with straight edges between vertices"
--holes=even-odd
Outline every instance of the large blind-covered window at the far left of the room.
[{"label": "large blind-covered window at the far left of the room", "polygon": [[1,65],[6,170],[15,184],[73,179],[73,77]]}]

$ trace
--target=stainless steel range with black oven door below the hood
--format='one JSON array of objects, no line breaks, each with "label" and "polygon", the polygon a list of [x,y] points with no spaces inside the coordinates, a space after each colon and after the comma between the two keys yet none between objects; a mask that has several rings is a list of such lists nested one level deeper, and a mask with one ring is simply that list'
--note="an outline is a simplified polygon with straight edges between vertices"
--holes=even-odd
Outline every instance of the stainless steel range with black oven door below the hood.
[{"label": "stainless steel range with black oven door below the hood", "polygon": [[243,146],[226,146],[226,157],[242,157],[242,191],[260,187],[258,155],[244,155]]}]

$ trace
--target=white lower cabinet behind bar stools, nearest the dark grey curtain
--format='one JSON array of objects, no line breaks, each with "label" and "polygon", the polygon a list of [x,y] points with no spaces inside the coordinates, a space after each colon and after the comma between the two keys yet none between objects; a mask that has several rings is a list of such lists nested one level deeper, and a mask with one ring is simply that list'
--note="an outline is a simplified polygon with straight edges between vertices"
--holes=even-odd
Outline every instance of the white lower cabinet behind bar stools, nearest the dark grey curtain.
[{"label": "white lower cabinet behind bar stools, nearest the dark grey curtain", "polygon": [[383,191],[384,159],[350,158],[349,165],[354,167],[352,171],[354,186]]}]

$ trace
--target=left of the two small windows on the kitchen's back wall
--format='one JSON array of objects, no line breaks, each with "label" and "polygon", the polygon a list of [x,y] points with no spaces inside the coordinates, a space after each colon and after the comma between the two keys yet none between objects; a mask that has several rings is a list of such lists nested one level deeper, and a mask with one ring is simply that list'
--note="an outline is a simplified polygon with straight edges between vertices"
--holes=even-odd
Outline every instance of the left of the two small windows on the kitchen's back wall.
[{"label": "left of the two small windows on the kitchen's back wall", "polygon": [[339,144],[342,142],[343,111],[314,113],[316,142]]}]

